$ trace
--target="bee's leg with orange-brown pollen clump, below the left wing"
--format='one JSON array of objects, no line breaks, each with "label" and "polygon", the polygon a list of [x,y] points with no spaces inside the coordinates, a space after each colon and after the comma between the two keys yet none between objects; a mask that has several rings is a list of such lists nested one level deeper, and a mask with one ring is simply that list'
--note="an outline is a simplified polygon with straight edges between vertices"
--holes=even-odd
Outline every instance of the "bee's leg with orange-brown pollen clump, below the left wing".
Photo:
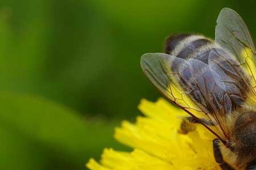
[{"label": "bee's leg with orange-brown pollen clump, below the left wing", "polygon": [[189,131],[195,131],[196,126],[195,124],[205,124],[208,126],[213,126],[212,122],[205,120],[201,118],[200,120],[197,120],[193,117],[184,117],[183,122],[181,122],[179,133],[187,134]]}]

